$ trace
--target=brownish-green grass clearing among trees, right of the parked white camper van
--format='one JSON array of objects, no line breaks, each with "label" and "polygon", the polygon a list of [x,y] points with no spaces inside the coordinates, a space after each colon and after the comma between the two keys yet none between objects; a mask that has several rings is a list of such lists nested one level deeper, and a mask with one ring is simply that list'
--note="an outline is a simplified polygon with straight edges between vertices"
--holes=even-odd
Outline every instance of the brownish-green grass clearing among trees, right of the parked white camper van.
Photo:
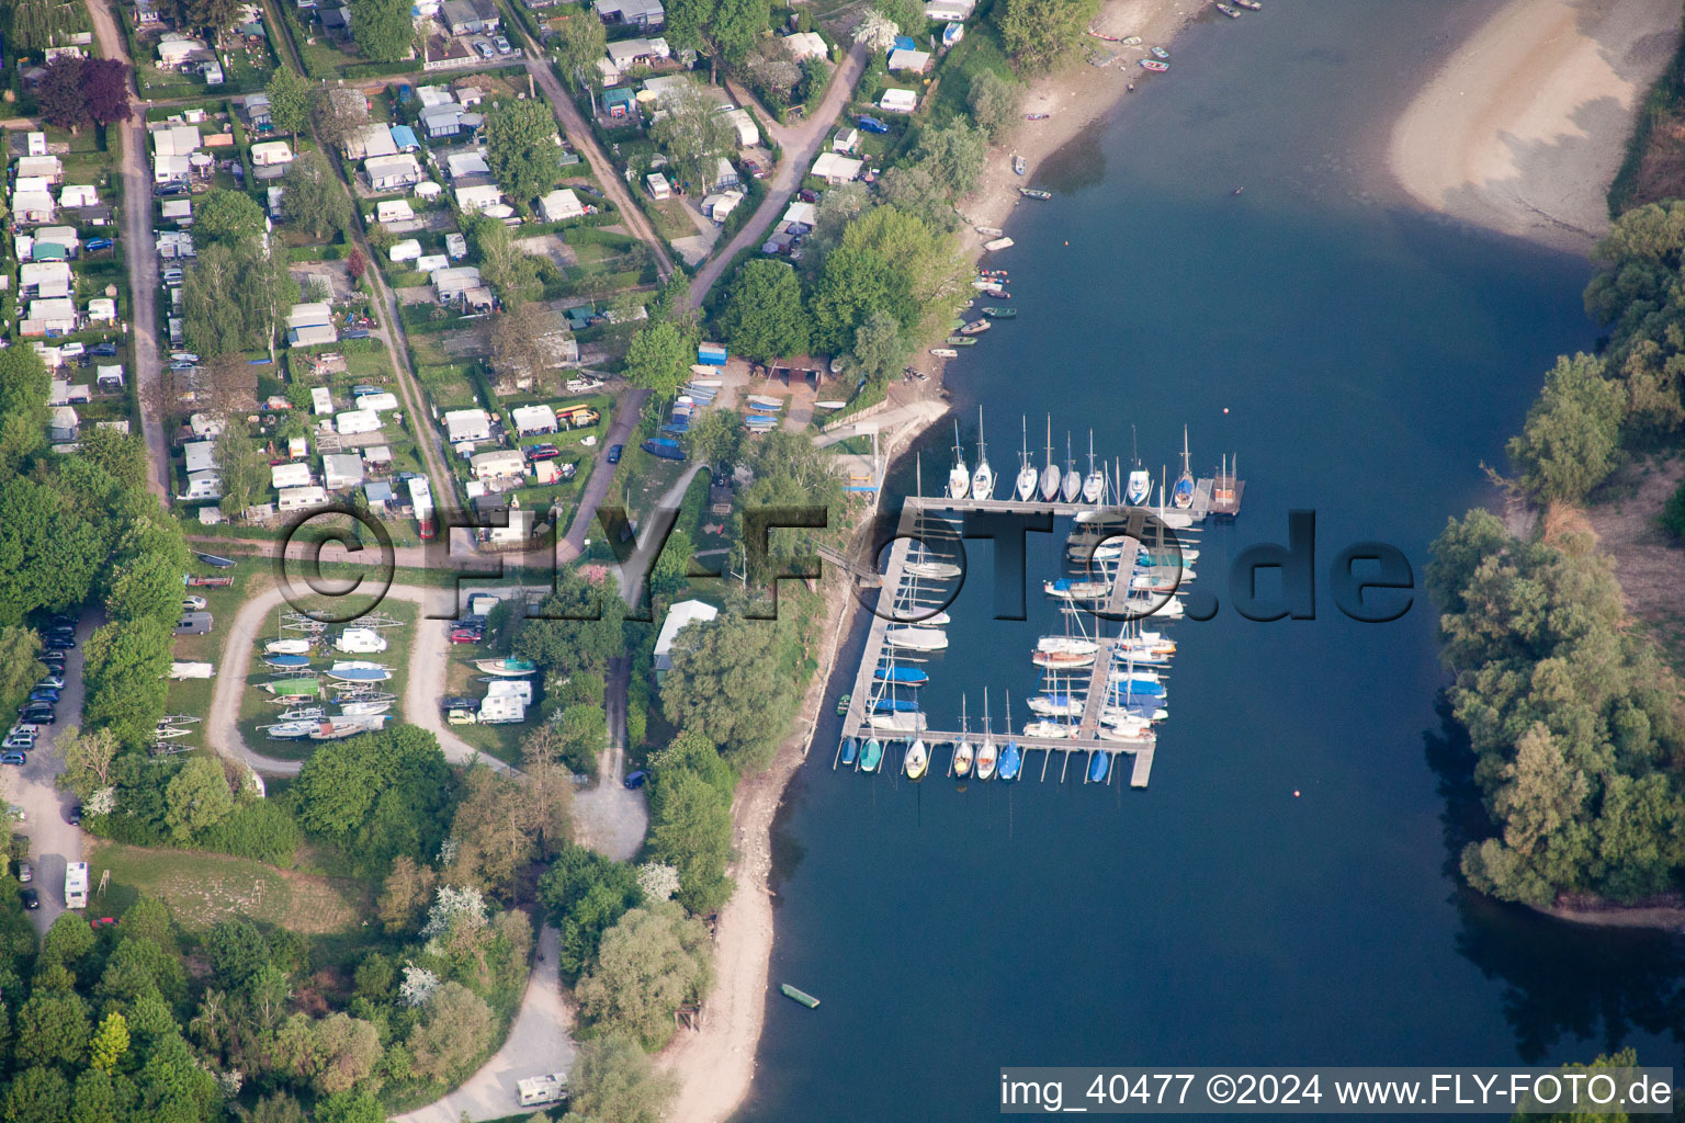
[{"label": "brownish-green grass clearing among trees, right of the parked white camper van", "polygon": [[116,916],[138,894],[163,901],[187,929],[206,929],[227,916],[249,916],[288,931],[317,934],[361,924],[369,914],[369,887],[347,877],[281,870],[249,859],[201,850],[152,850],[89,840],[88,872],[104,896],[91,914]]}]

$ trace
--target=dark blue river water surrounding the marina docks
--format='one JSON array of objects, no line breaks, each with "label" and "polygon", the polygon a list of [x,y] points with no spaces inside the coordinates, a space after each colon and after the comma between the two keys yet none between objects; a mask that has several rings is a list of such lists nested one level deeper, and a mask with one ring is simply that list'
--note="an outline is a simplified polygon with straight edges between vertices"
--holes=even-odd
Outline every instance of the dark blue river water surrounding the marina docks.
[{"label": "dark blue river water surrounding the marina docks", "polygon": [[[1426,596],[1393,625],[1343,618],[1323,574],[1314,621],[1227,603],[1225,559],[1284,542],[1291,508],[1316,510],[1319,567],[1383,539],[1420,576],[1447,515],[1493,498],[1479,463],[1503,463],[1554,355],[1594,342],[1584,261],[1382,187],[1415,77],[1488,10],[1449,7],[1274,0],[1195,27],[1168,79],[1038,170],[1060,195],[1019,207],[1003,261],[1021,318],[954,364],[967,439],[981,402],[1001,490],[1021,414],[1038,456],[1048,412],[1060,446],[1092,426],[1107,456],[1129,456],[1134,424],[1171,475],[1185,423],[1201,473],[1238,453],[1245,512],[1198,544],[1198,588],[1223,606],[1173,626],[1147,791],[1075,766],[1062,786],[1056,761],[1048,783],[966,791],[832,773],[821,727],[777,827],[772,982],[824,1005],[770,992],[745,1118],[982,1118],[1003,1064],[1510,1064],[1614,1044],[1677,1061],[1672,941],[1555,924],[1451,876]],[[923,446],[932,485],[949,434]],[[1036,549],[1040,588],[1053,547]],[[1030,621],[991,620],[986,544],[971,561],[927,705],[952,727],[987,685],[1021,724],[1053,613],[1033,593]]]}]

